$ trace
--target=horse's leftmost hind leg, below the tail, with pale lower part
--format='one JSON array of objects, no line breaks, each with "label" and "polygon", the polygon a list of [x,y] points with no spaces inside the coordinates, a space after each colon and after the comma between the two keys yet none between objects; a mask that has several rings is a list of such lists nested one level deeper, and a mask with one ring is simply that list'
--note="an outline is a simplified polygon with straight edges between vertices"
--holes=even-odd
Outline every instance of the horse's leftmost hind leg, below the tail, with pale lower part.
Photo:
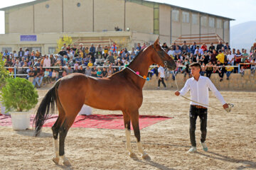
[{"label": "horse's leftmost hind leg, below the tail, with pale lower part", "polygon": [[56,122],[52,127],[53,145],[54,145],[54,152],[55,152],[55,157],[53,157],[53,162],[55,164],[58,164],[60,160],[59,147],[58,147],[58,133],[59,133],[60,125],[63,123],[63,120],[65,119],[65,112],[63,111],[63,109],[58,108],[58,111],[59,111],[58,119],[56,120]]}]

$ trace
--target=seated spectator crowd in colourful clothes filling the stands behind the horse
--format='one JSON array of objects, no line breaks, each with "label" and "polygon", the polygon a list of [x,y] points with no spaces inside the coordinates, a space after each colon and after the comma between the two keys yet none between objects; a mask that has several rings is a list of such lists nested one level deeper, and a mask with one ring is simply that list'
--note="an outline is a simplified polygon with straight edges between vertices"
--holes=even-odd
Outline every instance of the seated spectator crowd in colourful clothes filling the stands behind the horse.
[{"label": "seated spectator crowd in colourful clothes filling the stands behind the horse", "polygon": [[[137,47],[132,47],[132,51],[128,51],[125,47],[119,48],[114,42],[110,47],[101,45],[95,47],[93,44],[86,47],[80,43],[72,47],[64,44],[60,52],[55,55],[42,55],[38,50],[23,51],[22,47],[18,52],[5,50],[0,55],[3,60],[6,60],[5,67],[9,69],[9,72],[14,73],[14,69],[9,67],[16,67],[16,74],[26,74],[26,78],[34,86],[40,88],[42,85],[53,83],[73,72],[91,77],[108,77],[132,62],[145,47],[146,43],[142,46],[138,43]],[[166,74],[172,74],[173,79],[178,73],[183,73],[184,77],[187,74],[191,77],[189,64],[193,62],[201,64],[202,76],[210,78],[211,74],[218,74],[220,81],[223,81],[224,74],[226,74],[226,79],[229,79],[230,74],[238,73],[238,69],[242,76],[245,69],[251,69],[251,74],[255,74],[256,42],[250,52],[245,49],[240,51],[230,48],[228,42],[223,44],[221,41],[217,45],[210,43],[209,47],[204,43],[201,46],[196,45],[196,42],[193,42],[193,45],[187,45],[186,41],[183,45],[174,42],[170,46],[164,42],[161,47],[173,57],[178,66],[171,72],[165,69]],[[154,74],[158,76],[157,67],[149,69],[148,77],[151,78]]]}]

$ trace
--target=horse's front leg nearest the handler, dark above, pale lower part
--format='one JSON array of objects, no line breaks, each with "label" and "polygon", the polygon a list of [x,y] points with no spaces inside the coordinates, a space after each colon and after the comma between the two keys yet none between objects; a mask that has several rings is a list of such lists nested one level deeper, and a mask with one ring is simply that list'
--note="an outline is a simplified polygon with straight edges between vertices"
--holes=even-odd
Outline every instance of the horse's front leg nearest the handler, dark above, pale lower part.
[{"label": "horse's front leg nearest the handler, dark above, pale lower part", "polygon": [[142,148],[142,143],[140,140],[140,132],[139,132],[139,111],[133,111],[131,113],[131,118],[132,118],[132,128],[134,129],[134,135],[137,138],[137,146],[139,153],[142,154],[143,159],[150,159],[149,155],[144,152]]}]

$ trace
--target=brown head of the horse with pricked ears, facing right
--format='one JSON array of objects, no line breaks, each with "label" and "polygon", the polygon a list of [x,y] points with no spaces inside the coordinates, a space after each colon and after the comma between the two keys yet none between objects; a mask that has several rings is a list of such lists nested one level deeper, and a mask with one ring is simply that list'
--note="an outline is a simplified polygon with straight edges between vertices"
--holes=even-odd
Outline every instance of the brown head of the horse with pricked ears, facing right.
[{"label": "brown head of the horse with pricked ears, facing right", "polygon": [[152,60],[154,63],[161,65],[162,67],[167,67],[168,69],[176,69],[176,63],[174,60],[167,54],[167,52],[159,45],[159,38],[157,38],[154,45],[151,45],[154,50],[154,55]]}]

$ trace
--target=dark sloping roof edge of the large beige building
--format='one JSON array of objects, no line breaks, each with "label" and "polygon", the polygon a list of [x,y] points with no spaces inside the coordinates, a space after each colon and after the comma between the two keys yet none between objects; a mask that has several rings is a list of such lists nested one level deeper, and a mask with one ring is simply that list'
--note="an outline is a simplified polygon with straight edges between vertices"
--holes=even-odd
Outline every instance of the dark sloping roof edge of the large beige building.
[{"label": "dark sloping roof edge of the large beige building", "polygon": [[[36,0],[36,1],[31,1],[31,2],[27,2],[27,3],[23,3],[23,4],[14,5],[14,6],[8,6],[8,7],[5,7],[5,8],[0,8],[0,11],[7,11],[11,8],[20,8],[20,7],[25,7],[25,6],[31,6],[31,5],[34,5],[34,4],[39,4],[39,3],[44,2],[44,1],[49,1],[49,0]],[[136,2],[138,2],[138,1],[139,0],[136,0]],[[140,1],[143,3],[143,1],[145,1],[145,0],[140,0]],[[172,8],[181,8],[184,11],[191,11],[191,12],[194,12],[194,13],[201,13],[203,15],[209,15],[209,16],[215,16],[215,17],[218,17],[218,18],[224,18],[224,19],[227,19],[229,21],[235,21],[235,19],[233,19],[233,18],[227,18],[227,17],[224,17],[224,16],[217,16],[217,15],[212,14],[212,13],[205,13],[205,12],[202,12],[202,11],[196,11],[196,10],[193,10],[191,8],[183,8],[181,6],[174,6],[174,5],[171,5],[171,4],[166,4],[166,3],[156,2],[156,1],[145,1],[145,2],[155,3],[155,4],[162,4],[162,5],[166,5],[166,6],[171,6]]]}]

